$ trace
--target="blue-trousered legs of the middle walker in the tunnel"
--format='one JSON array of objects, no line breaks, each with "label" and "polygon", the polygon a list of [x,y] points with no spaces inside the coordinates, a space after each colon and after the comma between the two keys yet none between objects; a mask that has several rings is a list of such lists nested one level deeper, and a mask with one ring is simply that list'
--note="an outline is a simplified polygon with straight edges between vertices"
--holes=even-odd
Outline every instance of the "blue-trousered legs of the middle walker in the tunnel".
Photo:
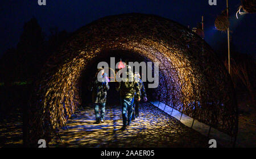
[{"label": "blue-trousered legs of the middle walker in the tunnel", "polygon": [[121,98],[123,127],[130,125],[133,116],[134,98]]}]

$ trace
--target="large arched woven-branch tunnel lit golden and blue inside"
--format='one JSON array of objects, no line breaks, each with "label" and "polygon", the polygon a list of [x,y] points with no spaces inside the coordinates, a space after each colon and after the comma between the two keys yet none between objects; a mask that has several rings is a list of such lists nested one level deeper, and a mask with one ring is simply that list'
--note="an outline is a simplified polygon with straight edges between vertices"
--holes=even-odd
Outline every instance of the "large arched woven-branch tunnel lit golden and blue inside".
[{"label": "large arched woven-branch tunnel lit golden and blue inside", "polygon": [[[228,72],[201,37],[156,15],[122,14],[80,28],[44,66],[28,108],[31,143],[48,139],[81,104],[81,77],[98,57],[115,50],[159,62],[155,97],[230,136],[237,134],[237,103]],[[109,54],[108,54],[109,53]]]}]

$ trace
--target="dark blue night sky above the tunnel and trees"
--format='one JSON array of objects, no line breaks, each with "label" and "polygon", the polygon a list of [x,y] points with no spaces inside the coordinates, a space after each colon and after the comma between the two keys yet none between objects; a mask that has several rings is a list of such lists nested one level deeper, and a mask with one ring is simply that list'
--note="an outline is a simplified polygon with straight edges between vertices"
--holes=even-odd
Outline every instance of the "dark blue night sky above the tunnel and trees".
[{"label": "dark blue night sky above the tunnel and trees", "polygon": [[[226,41],[226,33],[214,30],[214,19],[226,7],[225,0],[217,0],[217,6],[210,6],[208,0],[46,0],[47,6],[39,6],[38,0],[3,0],[0,6],[0,55],[6,49],[16,47],[23,31],[23,24],[33,16],[43,31],[49,35],[49,28],[72,32],[108,15],[140,12],[156,14],[175,20],[184,26],[196,27],[201,15],[205,20],[205,40],[214,49]],[[255,53],[255,15],[246,14],[236,19],[240,0],[229,0],[232,43],[237,51]]]}]

